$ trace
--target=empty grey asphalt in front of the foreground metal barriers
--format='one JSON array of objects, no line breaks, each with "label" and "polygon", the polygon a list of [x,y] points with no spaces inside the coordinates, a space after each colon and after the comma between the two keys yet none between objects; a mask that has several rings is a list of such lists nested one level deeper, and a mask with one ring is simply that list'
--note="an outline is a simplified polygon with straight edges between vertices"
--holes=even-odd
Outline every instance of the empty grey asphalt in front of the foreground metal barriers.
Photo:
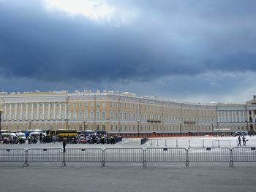
[{"label": "empty grey asphalt in front of the foreground metal barriers", "polygon": [[0,164],[0,191],[256,191],[256,165]]}]

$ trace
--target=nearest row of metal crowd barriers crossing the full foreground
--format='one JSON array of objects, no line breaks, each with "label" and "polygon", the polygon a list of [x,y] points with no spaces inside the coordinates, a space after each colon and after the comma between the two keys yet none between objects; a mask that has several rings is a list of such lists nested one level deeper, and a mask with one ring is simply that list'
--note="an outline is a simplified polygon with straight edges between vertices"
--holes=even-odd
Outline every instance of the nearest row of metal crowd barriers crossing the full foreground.
[{"label": "nearest row of metal crowd barriers crossing the full foreground", "polygon": [[195,162],[256,162],[256,147],[152,147],[152,148],[61,148],[0,149],[0,162],[66,162],[81,163],[181,163],[188,167]]}]

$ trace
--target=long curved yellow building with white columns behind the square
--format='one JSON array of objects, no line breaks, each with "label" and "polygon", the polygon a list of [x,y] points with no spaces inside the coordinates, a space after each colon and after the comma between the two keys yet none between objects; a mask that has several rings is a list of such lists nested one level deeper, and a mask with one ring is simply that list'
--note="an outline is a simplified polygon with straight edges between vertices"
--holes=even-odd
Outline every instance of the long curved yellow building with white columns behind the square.
[{"label": "long curved yellow building with white columns behind the square", "polygon": [[113,91],[0,93],[1,129],[105,130],[115,134],[256,131],[256,97],[244,104],[191,103]]}]

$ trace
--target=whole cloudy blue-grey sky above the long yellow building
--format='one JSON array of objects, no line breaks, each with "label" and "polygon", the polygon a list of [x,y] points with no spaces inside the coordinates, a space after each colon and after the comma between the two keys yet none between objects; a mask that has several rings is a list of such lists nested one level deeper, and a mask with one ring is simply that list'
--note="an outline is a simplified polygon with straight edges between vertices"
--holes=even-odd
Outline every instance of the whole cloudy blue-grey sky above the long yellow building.
[{"label": "whole cloudy blue-grey sky above the long yellow building", "polygon": [[0,91],[256,95],[256,1],[0,0]]}]

